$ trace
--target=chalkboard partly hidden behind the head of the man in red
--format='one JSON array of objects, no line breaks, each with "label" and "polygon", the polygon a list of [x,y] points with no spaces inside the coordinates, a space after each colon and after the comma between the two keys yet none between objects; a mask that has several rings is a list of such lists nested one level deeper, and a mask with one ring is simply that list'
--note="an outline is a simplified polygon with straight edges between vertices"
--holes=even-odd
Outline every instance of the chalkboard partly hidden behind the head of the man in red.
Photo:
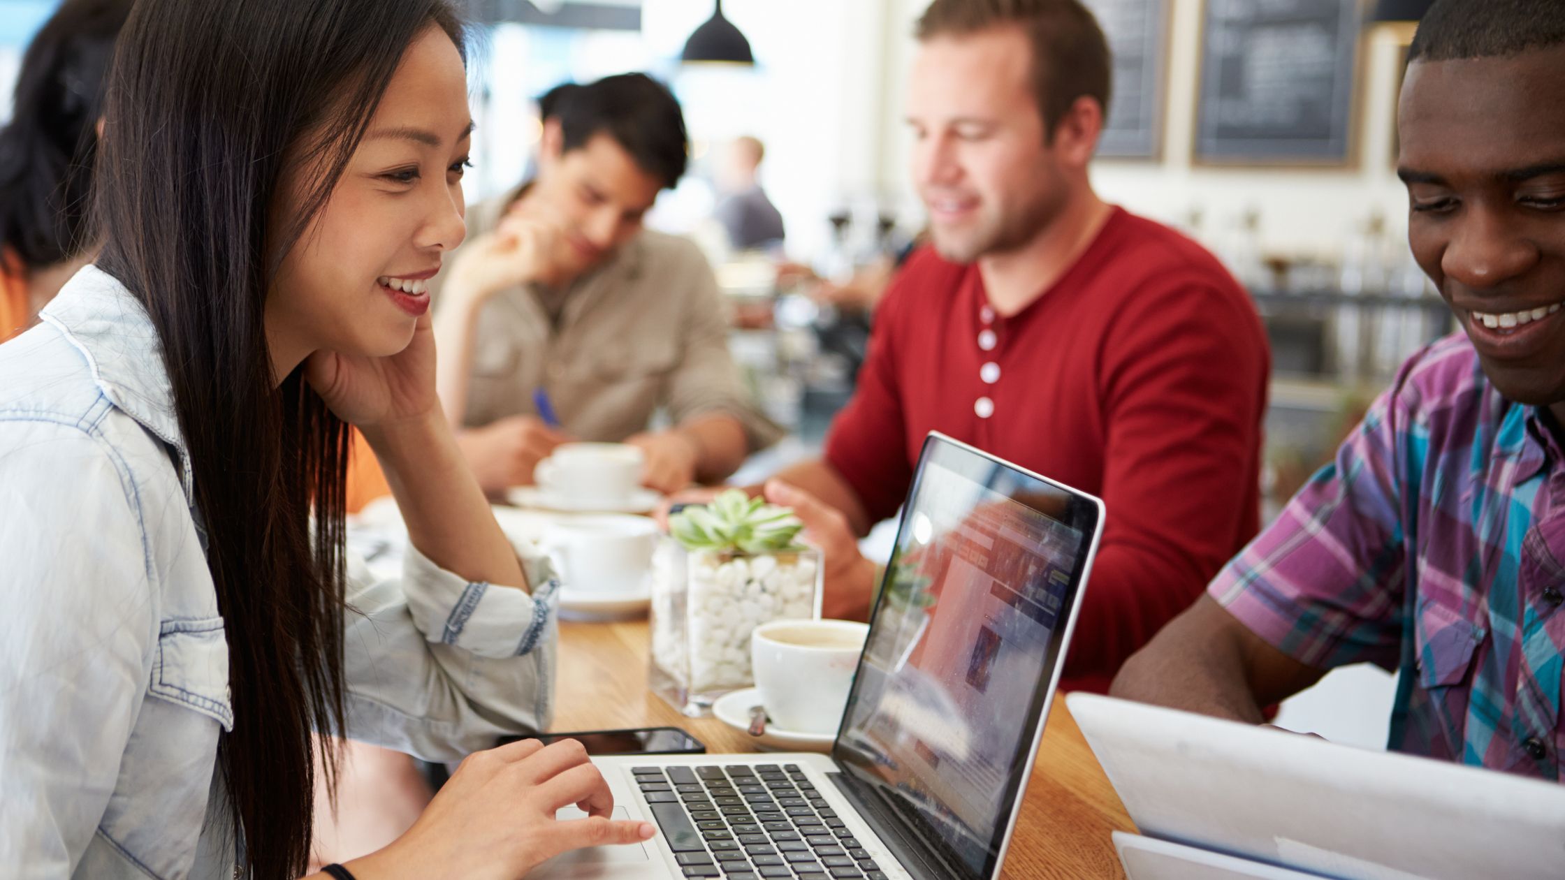
[{"label": "chalkboard partly hidden behind the head of the man in red", "polygon": [[1163,70],[1169,0],[1086,0],[1114,55],[1103,158],[1157,158],[1163,147]]}]

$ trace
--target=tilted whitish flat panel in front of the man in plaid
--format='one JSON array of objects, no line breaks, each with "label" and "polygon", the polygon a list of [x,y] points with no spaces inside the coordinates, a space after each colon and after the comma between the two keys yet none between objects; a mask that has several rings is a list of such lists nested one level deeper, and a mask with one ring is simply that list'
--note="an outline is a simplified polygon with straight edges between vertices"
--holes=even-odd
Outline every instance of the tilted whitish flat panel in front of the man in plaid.
[{"label": "tilted whitish flat panel in front of the man in plaid", "polygon": [[1125,860],[1131,880],[1218,875],[1193,874],[1193,850],[1233,857],[1225,877],[1565,877],[1557,783],[1097,694],[1066,703],[1141,833],[1178,844]]}]

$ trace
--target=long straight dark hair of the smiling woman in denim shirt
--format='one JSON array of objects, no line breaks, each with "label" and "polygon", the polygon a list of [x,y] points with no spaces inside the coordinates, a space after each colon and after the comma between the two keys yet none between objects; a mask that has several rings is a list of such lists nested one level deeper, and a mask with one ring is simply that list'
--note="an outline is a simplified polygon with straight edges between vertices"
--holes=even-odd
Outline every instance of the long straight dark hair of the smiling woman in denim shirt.
[{"label": "long straight dark hair of the smiling woman in denim shirt", "polygon": [[[218,758],[254,877],[305,867],[311,731],[343,730],[347,435],[302,368],[277,387],[266,294],[429,25],[463,45],[448,0],[139,0],[111,74],[99,266],[163,346],[227,622]],[[294,169],[304,210],[279,229]]]}]

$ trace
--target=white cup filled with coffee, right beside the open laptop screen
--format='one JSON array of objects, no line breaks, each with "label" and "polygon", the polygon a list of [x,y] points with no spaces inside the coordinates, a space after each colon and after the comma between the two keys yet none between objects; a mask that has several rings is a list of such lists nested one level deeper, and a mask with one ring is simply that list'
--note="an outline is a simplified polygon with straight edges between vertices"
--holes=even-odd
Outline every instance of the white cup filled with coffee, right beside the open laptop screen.
[{"label": "white cup filled with coffee, right beside the open laptop screen", "polygon": [[848,705],[869,623],[773,620],[750,636],[750,662],[770,725],[833,734]]}]

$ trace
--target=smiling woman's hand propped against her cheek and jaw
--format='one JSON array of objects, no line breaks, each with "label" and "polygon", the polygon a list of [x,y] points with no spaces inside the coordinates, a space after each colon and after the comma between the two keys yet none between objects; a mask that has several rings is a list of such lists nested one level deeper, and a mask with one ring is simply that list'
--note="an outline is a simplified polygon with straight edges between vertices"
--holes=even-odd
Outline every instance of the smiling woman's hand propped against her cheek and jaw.
[{"label": "smiling woman's hand propped against her cheek and jaw", "polygon": [[429,315],[418,319],[405,349],[388,357],[322,349],[305,362],[305,379],[338,418],[357,427],[429,417],[440,409]]}]

